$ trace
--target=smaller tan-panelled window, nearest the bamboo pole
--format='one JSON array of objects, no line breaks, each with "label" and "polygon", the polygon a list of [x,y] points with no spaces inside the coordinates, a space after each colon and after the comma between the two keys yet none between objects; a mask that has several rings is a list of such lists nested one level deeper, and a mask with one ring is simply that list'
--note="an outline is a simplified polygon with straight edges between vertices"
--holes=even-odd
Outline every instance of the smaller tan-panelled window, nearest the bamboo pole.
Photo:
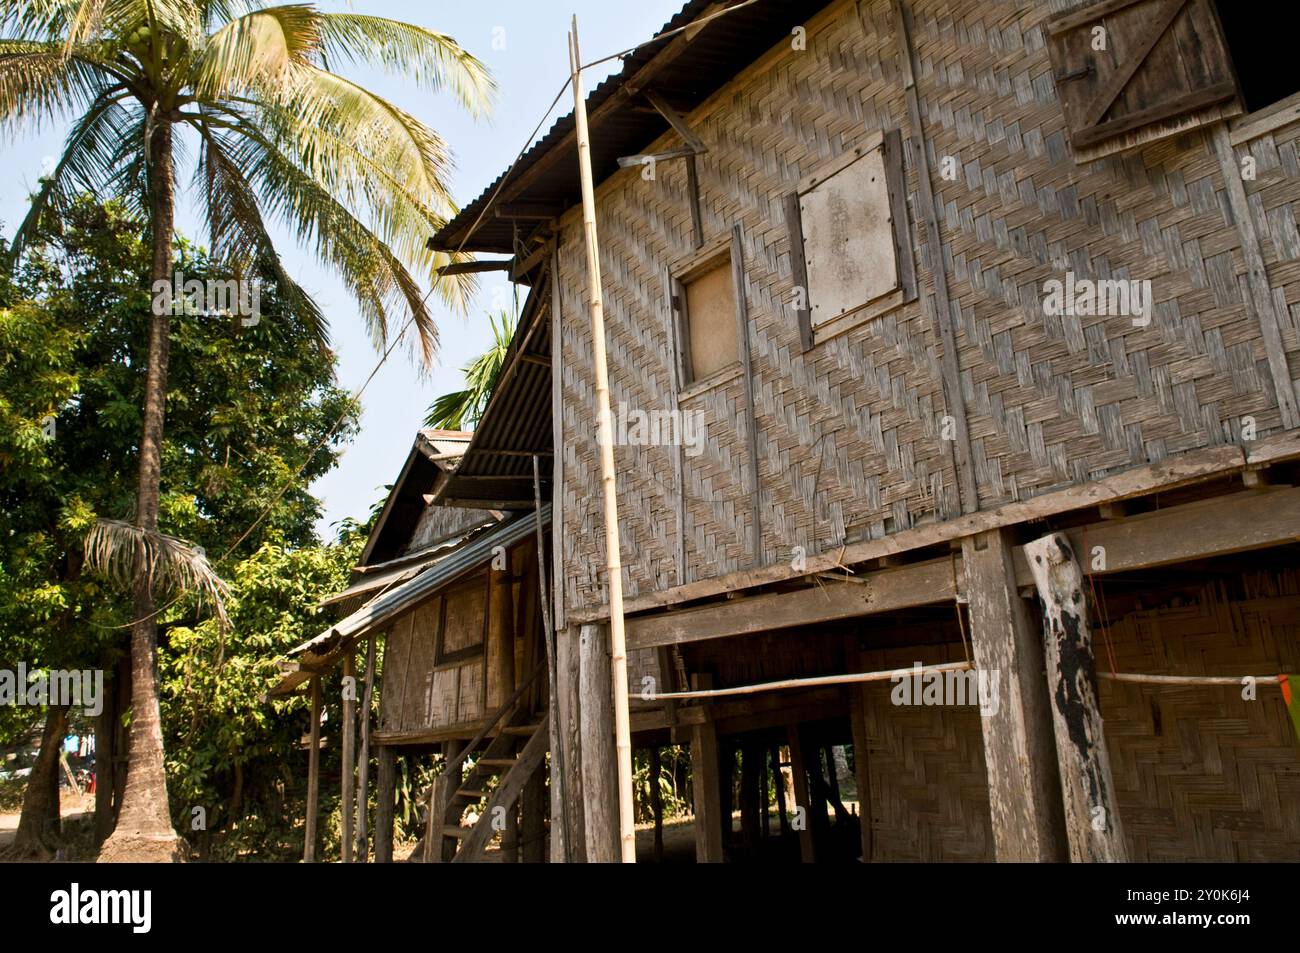
[{"label": "smaller tan-panelled window, nearest the bamboo pole", "polygon": [[736,289],[731,252],[707,256],[679,276],[682,385],[690,386],[740,364],[736,326]]}]

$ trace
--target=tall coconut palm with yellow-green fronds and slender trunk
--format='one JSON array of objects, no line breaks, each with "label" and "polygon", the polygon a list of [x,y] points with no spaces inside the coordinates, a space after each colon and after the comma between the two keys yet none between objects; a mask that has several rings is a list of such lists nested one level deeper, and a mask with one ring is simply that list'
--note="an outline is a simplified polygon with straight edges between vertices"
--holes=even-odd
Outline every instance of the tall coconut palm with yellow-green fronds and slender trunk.
[{"label": "tall coconut palm with yellow-green fronds and slender trunk", "polygon": [[[0,124],[74,117],[18,229],[14,256],[40,217],[77,194],[120,195],[151,226],[153,282],[168,282],[178,166],[196,151],[191,187],[211,251],[234,274],[272,269],[295,316],[324,342],[320,311],[272,246],[269,222],[278,222],[338,272],[378,345],[399,315],[410,315],[419,354],[430,360],[437,330],[416,276],[436,280],[448,260],[424,242],[454,209],[450,153],[413,116],[334,73],[341,64],[448,90],[473,114],[494,92],[484,65],[445,34],[306,3],[0,0]],[[463,278],[436,281],[452,306],[463,307],[472,291]],[[157,311],[131,532],[101,527],[95,541],[109,562],[125,549],[142,559],[183,554],[159,533],[170,315]],[[133,573],[127,781],[101,859],[179,858],[155,670],[156,585],[166,576],[142,564]]]}]

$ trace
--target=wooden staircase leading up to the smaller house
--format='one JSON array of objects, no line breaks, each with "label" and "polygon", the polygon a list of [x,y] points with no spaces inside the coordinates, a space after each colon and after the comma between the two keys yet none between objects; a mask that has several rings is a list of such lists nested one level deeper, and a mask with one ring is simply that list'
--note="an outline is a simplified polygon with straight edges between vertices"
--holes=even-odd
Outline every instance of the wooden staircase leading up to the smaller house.
[{"label": "wooden staircase leading up to the smaller house", "polygon": [[[540,671],[534,672],[515,689],[478,735],[434,779],[422,839],[425,863],[481,861],[493,835],[500,829],[500,826],[494,826],[493,822],[503,816],[504,811],[514,809],[524,785],[541,768],[550,746],[547,716],[534,715],[526,705],[520,703],[524,692],[538,673]],[[462,772],[462,764],[498,724],[500,728],[497,735],[477,757],[473,767],[465,772],[460,784],[452,789],[455,779]],[[489,790],[489,781],[494,777],[498,779],[497,785]],[[488,803],[478,814],[477,822],[469,827],[456,823],[465,807],[484,798]]]}]

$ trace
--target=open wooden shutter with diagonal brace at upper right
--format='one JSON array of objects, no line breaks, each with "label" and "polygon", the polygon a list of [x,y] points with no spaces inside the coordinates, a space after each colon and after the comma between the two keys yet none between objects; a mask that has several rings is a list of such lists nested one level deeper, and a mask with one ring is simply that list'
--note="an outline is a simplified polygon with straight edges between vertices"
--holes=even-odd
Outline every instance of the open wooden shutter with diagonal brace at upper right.
[{"label": "open wooden shutter with diagonal brace at upper right", "polygon": [[[1104,31],[1105,48],[1098,44]],[[1076,161],[1242,112],[1210,0],[1104,0],[1046,25]]]}]

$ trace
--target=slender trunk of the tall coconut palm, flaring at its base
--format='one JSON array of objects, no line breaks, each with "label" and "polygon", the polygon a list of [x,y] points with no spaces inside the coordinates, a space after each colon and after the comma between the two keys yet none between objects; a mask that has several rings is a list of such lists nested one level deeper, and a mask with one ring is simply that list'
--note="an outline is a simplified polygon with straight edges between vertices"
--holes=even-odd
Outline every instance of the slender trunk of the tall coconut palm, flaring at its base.
[{"label": "slender trunk of the tall coconut palm, flaring at its base", "polygon": [[[153,281],[170,281],[174,169],[172,125],[157,122],[151,131],[150,191],[153,226]],[[173,289],[173,296],[179,289]],[[155,308],[160,311],[160,308]],[[162,421],[170,350],[169,309],[150,319],[150,355],[144,378],[144,425],[140,434],[135,525],[150,533],[159,528]],[[104,842],[100,861],[183,861],[181,839],[172,828],[162,761],[162,718],[159,710],[157,618],[153,593],[143,576],[135,582],[131,627],[131,733],[127,741],[126,790],[117,828]]]}]

